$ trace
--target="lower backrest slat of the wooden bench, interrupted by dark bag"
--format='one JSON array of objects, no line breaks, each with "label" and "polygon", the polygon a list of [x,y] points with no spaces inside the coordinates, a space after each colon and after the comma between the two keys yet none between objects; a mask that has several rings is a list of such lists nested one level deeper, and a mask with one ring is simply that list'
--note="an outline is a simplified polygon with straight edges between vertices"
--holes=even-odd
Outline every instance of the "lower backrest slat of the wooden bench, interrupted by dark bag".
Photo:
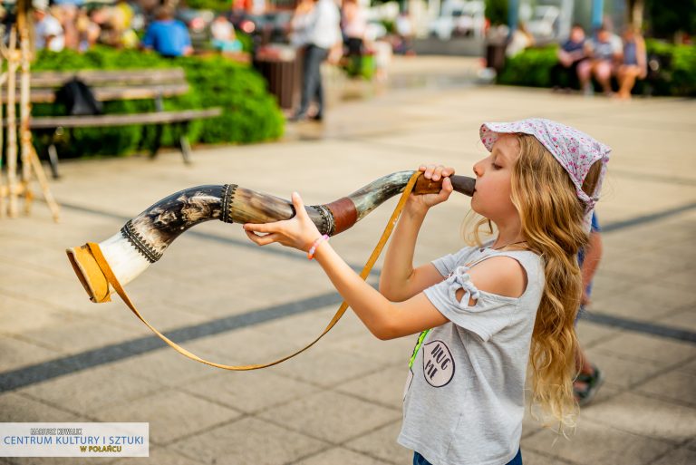
[{"label": "lower backrest slat of the wooden bench, interrupted by dark bag", "polygon": [[[176,97],[189,92],[189,84],[186,82],[162,85],[131,85],[128,87],[92,87],[94,98],[100,102],[112,100],[146,100],[157,97]],[[54,89],[32,89],[30,93],[32,103],[55,102]],[[3,92],[2,102],[7,102],[7,94]]]}]

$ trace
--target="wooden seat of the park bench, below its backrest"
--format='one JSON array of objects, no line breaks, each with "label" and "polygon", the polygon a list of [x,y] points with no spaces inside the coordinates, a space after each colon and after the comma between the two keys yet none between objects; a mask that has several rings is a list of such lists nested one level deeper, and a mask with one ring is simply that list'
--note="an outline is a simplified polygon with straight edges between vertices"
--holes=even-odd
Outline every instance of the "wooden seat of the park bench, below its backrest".
[{"label": "wooden seat of the park bench, below its backrest", "polygon": [[157,111],[137,114],[105,114],[98,116],[47,116],[32,118],[31,129],[90,128],[103,126],[125,126],[128,124],[167,124],[191,121],[198,118],[214,118],[222,114],[221,108],[206,110]]}]

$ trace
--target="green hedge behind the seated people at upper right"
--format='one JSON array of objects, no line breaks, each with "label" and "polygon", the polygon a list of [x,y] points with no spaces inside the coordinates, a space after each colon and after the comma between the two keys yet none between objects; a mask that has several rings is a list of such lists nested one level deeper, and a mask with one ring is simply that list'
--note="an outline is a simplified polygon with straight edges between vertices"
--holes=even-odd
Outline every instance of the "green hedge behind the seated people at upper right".
[{"label": "green hedge behind the seated people at upper right", "polygon": [[[656,56],[662,67],[649,84],[653,95],[696,96],[696,47],[665,44],[656,40],[645,41],[649,56]],[[551,67],[556,64],[556,45],[531,48],[507,58],[505,68],[498,75],[498,83],[548,87]],[[642,93],[648,82],[636,83],[634,92]]]}]

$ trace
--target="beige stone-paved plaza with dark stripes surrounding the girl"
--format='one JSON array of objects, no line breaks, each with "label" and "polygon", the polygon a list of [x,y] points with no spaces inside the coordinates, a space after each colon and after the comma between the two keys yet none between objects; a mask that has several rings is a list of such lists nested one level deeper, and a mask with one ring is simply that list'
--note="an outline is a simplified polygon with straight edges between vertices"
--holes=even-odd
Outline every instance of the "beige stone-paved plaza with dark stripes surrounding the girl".
[{"label": "beige stone-paved plaza with dark stripes surrounding the girl", "polygon": [[[196,185],[236,183],[286,199],[297,190],[309,205],[423,162],[471,175],[485,156],[480,123],[530,116],[573,125],[614,151],[597,208],[604,258],[591,313],[578,325],[606,383],[568,439],[527,418],[525,463],[696,463],[696,102],[623,103],[454,79],[430,85],[418,70],[437,74],[459,62],[416,60],[423,62],[397,63],[397,71],[420,85],[349,102],[334,96],[324,125],[288,126],[275,143],[201,147],[191,166],[173,151],[157,160],[64,162],[51,185],[60,224],[41,201],[30,217],[0,221],[0,421],[150,422],[150,459],[0,463],[411,463],[395,440],[415,336],[378,341],[349,311],[293,360],[225,372],[160,343],[119,299],[89,302],[64,250],[111,237],[151,203]],[[395,204],[332,238],[353,267],[365,262]],[[459,194],[430,211],[416,265],[464,247],[468,211]],[[368,279],[374,285],[381,264]],[[239,225],[221,222],[179,237],[127,289],[153,325],[232,364],[303,346],[340,304],[314,261],[256,247]]]}]

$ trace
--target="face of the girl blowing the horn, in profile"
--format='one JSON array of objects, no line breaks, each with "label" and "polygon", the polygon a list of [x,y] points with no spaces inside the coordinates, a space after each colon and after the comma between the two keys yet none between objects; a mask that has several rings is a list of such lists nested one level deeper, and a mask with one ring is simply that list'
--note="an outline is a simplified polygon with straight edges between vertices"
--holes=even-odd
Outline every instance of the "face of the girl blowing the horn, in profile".
[{"label": "face of the girl blowing the horn, in profile", "polygon": [[487,158],[474,165],[476,190],[471,208],[494,223],[515,218],[517,209],[512,204],[512,168],[519,156],[519,142],[513,134],[500,134]]}]

